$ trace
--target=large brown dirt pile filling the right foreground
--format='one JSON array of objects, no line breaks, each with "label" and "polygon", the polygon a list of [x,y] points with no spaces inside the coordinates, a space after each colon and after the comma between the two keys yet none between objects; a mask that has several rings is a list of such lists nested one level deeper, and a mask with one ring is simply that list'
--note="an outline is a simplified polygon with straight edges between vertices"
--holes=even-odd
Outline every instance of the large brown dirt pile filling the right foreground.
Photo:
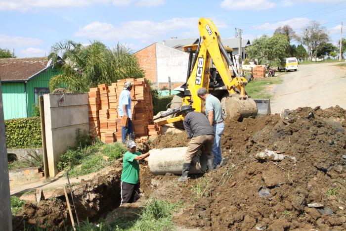
[{"label": "large brown dirt pile filling the right foreground", "polygon": [[[222,137],[227,165],[206,174],[203,181],[178,184],[175,176],[155,177],[153,194],[184,200],[184,210],[175,217],[183,227],[344,230],[345,118],[346,110],[337,106],[234,121]],[[187,144],[183,134],[171,136],[160,137],[155,146]],[[201,198],[190,190],[197,183],[204,190]]]}]

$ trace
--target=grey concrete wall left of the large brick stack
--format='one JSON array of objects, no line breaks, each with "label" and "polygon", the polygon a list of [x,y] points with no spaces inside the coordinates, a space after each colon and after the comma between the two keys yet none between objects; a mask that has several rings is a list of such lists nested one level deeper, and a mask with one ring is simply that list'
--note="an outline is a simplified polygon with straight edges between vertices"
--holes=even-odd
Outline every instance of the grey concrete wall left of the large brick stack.
[{"label": "grey concrete wall left of the large brick stack", "polygon": [[44,124],[49,176],[58,173],[60,155],[76,144],[76,131],[89,131],[87,93],[44,94]]}]

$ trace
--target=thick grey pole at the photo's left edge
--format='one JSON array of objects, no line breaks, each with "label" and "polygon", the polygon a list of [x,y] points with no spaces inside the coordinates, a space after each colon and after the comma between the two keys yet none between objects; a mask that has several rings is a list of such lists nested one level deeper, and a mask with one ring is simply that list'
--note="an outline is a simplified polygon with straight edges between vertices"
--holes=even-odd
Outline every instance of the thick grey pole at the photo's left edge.
[{"label": "thick grey pole at the photo's left edge", "polygon": [[0,230],[12,230],[12,214],[8,179],[8,162],[0,82]]}]

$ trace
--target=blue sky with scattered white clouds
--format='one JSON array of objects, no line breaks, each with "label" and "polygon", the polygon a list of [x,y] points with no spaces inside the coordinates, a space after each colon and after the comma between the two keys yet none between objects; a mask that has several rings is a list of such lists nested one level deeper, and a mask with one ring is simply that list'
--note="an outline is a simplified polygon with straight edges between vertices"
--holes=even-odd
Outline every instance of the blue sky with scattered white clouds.
[{"label": "blue sky with scattered white clouds", "polygon": [[[39,57],[61,40],[118,42],[133,51],[171,37],[197,38],[197,22],[209,17],[221,38],[272,35],[290,25],[297,34],[310,20],[340,39],[346,35],[346,0],[0,0],[0,47],[17,57]],[[344,36],[345,38],[346,36]]]}]

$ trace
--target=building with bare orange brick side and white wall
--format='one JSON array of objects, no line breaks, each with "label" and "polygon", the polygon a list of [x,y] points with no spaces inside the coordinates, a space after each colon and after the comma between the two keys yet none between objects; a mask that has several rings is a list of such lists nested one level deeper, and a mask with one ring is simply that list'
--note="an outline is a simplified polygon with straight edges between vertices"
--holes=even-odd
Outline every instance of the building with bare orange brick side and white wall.
[{"label": "building with bare orange brick side and white wall", "polygon": [[186,82],[188,53],[155,43],[134,55],[153,87],[159,90],[168,87],[168,77],[171,78],[172,89]]}]

